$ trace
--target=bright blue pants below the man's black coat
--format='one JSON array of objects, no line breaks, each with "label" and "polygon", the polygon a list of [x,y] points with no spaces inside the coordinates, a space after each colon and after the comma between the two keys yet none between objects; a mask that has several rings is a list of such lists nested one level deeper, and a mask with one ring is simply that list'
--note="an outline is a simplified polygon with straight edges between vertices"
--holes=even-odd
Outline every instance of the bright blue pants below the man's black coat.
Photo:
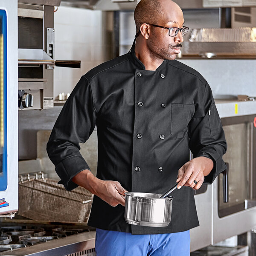
[{"label": "bright blue pants below the man's black coat", "polygon": [[189,256],[189,230],[171,234],[132,235],[96,229],[97,256]]}]

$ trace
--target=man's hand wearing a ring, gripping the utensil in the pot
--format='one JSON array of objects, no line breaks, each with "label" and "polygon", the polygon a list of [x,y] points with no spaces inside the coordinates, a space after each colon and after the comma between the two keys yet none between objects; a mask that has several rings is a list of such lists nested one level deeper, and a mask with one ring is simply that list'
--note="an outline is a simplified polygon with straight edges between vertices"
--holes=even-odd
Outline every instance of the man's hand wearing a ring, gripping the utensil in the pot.
[{"label": "man's hand wearing a ring, gripping the utensil in the pot", "polygon": [[212,168],[213,161],[208,157],[193,158],[179,169],[176,180],[177,188],[190,186],[192,189],[199,189],[204,182],[204,176],[209,175]]}]

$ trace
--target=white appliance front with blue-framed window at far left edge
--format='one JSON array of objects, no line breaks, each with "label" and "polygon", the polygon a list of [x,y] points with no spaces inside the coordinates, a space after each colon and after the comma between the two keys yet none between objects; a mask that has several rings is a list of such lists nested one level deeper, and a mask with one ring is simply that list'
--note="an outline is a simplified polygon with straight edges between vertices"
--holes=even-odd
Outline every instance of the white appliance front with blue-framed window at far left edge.
[{"label": "white appliance front with blue-framed window at far left edge", "polygon": [[18,208],[17,0],[0,1],[0,215]]}]

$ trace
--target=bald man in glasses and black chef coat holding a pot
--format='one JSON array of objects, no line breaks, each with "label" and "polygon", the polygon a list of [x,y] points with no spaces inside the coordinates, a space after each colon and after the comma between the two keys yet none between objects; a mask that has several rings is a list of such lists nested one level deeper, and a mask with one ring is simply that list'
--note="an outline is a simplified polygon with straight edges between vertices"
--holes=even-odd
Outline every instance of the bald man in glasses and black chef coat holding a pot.
[{"label": "bald man in glasses and black chef coat holding a pot", "polygon": [[[81,77],[47,151],[66,189],[95,195],[88,224],[97,228],[97,256],[188,256],[189,229],[199,225],[193,189],[225,169],[224,131],[207,81],[175,61],[188,30],[180,7],[141,0],[134,18],[136,44]],[[95,125],[97,177],[79,153]],[[168,227],[125,222],[125,192],[161,194],[175,182]]]}]

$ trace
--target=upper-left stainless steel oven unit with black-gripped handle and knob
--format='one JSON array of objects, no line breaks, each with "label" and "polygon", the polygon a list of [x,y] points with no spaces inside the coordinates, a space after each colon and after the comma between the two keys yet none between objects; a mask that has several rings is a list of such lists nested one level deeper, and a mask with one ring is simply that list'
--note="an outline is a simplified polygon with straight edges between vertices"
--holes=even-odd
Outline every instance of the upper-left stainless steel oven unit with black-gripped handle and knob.
[{"label": "upper-left stainless steel oven unit with black-gripped handle and knob", "polygon": [[81,61],[55,61],[53,14],[61,0],[18,1],[18,107],[53,108],[55,66],[80,68]]}]

